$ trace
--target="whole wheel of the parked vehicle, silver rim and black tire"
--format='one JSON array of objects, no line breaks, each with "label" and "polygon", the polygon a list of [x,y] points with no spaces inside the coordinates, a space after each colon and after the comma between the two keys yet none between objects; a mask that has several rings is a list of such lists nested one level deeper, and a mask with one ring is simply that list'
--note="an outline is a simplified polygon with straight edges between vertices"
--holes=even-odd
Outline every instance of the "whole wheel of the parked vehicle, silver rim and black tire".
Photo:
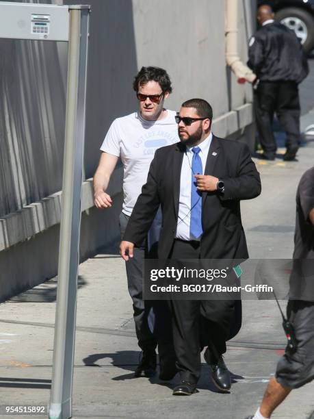
[{"label": "whole wheel of the parked vehicle, silver rim and black tire", "polygon": [[276,21],[296,32],[306,52],[314,48],[314,18],[306,10],[285,8],[276,12]]}]

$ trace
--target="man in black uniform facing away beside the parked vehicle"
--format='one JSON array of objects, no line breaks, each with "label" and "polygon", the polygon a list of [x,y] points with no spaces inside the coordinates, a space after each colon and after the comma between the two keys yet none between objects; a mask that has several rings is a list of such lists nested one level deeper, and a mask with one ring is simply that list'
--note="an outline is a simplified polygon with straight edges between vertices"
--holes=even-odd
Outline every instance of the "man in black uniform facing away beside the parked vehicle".
[{"label": "man in black uniform facing away beside the parked vehicle", "polygon": [[257,75],[254,83],[255,118],[263,154],[274,160],[276,140],[272,120],[276,112],[286,133],[287,151],[283,160],[294,160],[300,144],[300,102],[298,84],[309,73],[302,46],[296,34],[274,21],[269,5],[257,11],[261,27],[250,38],[248,66]]}]

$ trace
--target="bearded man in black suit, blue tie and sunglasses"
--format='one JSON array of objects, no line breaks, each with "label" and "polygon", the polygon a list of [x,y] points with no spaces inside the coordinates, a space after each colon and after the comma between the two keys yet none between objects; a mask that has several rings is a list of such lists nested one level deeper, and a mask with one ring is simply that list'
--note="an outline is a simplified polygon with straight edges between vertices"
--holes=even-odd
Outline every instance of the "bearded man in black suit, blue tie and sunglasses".
[{"label": "bearded man in black suit, blue tie and sunglasses", "polygon": [[[181,142],[155,153],[120,253],[133,257],[161,204],[161,259],[245,259],[246,238],[239,201],[261,192],[259,173],[246,144],[211,134],[211,105],[202,99],[183,103],[176,116]],[[176,394],[196,392],[200,377],[200,318],[206,319],[205,360],[222,390],[231,386],[222,353],[230,333],[234,301],[170,301],[177,368]],[[204,329],[202,330],[202,334]],[[203,341],[204,342],[204,341]],[[204,344],[204,343],[203,343]]]}]

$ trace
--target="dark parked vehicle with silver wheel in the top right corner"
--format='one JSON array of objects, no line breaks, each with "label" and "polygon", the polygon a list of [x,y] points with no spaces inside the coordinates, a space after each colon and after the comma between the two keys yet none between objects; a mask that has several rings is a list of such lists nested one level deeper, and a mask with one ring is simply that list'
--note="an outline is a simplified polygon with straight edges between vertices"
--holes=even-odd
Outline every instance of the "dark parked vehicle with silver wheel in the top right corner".
[{"label": "dark parked vehicle with silver wheel in the top right corner", "polygon": [[306,52],[314,48],[314,0],[259,0],[261,4],[272,6],[276,21],[296,32]]}]

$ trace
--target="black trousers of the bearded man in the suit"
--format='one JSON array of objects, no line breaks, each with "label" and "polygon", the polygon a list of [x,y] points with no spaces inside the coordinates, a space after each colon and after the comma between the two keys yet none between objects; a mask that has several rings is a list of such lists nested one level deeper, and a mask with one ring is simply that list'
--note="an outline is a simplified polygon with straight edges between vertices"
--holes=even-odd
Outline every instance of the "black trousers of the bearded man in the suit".
[{"label": "black trousers of the bearded man in the suit", "polygon": [[[199,242],[174,240],[170,259],[199,259]],[[171,300],[176,367],[181,379],[195,385],[200,378],[200,352],[208,346],[215,364],[226,352],[234,301]]]}]

